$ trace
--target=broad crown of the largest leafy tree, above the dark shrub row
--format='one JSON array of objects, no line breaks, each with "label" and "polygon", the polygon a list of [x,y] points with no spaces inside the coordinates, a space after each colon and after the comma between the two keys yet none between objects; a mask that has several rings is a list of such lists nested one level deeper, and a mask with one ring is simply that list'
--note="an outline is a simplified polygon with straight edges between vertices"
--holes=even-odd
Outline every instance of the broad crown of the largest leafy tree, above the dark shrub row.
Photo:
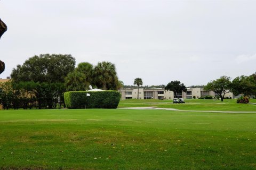
[{"label": "broad crown of the largest leafy tree, above the dark shrub row", "polygon": [[64,82],[68,73],[75,69],[75,58],[71,55],[41,54],[29,58],[12,70],[14,82]]}]

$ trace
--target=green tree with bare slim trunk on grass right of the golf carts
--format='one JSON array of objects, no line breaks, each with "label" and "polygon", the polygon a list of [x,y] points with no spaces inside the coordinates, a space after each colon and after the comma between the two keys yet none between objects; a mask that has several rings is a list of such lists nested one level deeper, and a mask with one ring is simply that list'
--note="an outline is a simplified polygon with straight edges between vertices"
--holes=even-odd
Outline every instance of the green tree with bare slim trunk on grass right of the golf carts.
[{"label": "green tree with bare slim trunk on grass right of the golf carts", "polygon": [[224,75],[217,80],[207,83],[204,90],[214,91],[220,96],[221,101],[223,101],[225,94],[229,92],[230,85],[230,77]]}]

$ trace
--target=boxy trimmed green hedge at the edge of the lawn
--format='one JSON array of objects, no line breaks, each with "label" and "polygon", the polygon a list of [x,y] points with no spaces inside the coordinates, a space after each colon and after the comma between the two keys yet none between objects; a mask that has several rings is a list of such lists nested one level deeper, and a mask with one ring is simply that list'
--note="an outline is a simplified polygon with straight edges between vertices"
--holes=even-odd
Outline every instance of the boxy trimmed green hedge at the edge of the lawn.
[{"label": "boxy trimmed green hedge at the edge of the lawn", "polygon": [[[86,97],[86,94],[90,96]],[[121,94],[118,91],[68,91],[64,94],[67,108],[117,108]]]}]

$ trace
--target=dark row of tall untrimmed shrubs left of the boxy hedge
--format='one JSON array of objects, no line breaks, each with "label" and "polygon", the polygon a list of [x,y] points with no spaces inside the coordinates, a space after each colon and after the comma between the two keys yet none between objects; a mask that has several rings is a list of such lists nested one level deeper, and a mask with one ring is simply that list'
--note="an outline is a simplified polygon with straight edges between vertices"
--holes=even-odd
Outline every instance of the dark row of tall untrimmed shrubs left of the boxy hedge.
[{"label": "dark row of tall untrimmed shrubs left of the boxy hedge", "polygon": [[8,81],[0,83],[0,104],[4,109],[56,108],[58,97],[60,104],[64,103],[64,91],[63,83]]}]

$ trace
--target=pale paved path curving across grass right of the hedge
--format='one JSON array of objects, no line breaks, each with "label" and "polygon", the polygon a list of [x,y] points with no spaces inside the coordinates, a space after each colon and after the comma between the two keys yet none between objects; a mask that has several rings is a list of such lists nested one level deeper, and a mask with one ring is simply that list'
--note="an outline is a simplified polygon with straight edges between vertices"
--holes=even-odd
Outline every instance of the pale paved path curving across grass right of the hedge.
[{"label": "pale paved path curving across grass right of the hedge", "polygon": [[158,107],[125,107],[125,108],[118,108],[118,109],[137,109],[137,110],[166,110],[166,111],[180,111],[180,112],[211,112],[211,113],[256,113],[255,112],[243,112],[243,111],[184,111],[175,108],[158,108]]}]

